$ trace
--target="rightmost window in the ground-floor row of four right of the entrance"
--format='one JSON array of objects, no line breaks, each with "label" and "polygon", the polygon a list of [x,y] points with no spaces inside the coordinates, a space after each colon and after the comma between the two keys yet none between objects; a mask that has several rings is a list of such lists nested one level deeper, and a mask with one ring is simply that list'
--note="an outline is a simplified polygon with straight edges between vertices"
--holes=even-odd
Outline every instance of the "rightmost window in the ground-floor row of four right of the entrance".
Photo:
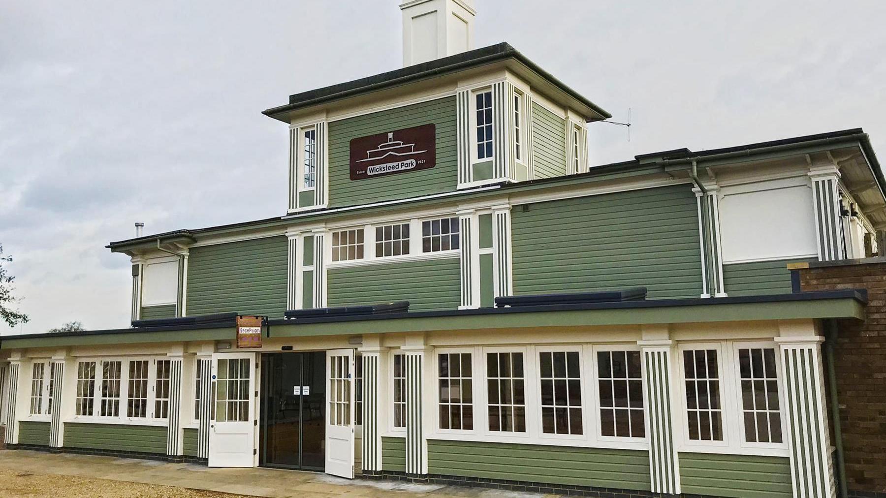
[{"label": "rightmost window in the ground-floor row of four right of the entrance", "polygon": [[601,435],[645,437],[640,352],[597,352],[597,384]]}]

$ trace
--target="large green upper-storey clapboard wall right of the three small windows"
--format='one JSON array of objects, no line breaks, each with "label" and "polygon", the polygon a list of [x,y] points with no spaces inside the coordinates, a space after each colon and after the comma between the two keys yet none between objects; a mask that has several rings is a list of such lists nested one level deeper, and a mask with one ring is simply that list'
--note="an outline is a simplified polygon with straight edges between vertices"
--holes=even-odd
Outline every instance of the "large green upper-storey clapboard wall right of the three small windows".
[{"label": "large green upper-storey clapboard wall right of the three small windows", "polygon": [[649,299],[702,292],[696,197],[689,185],[515,206],[514,292],[645,285]]}]

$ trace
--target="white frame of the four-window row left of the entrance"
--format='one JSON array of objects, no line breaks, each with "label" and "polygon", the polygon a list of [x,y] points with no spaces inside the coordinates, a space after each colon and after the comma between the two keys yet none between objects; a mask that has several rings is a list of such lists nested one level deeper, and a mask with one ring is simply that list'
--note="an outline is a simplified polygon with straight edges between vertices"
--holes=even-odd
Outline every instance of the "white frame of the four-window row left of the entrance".
[{"label": "white frame of the four-window row left of the entrance", "polygon": [[[157,361],[168,360],[168,356],[157,355],[133,355],[133,356],[106,356],[106,357],[82,357],[77,358],[80,362],[96,363],[96,382],[94,386],[93,408],[91,416],[76,415],[66,418],[65,422],[92,423],[92,424],[131,424],[131,425],[167,425],[167,418],[158,418],[155,411]],[[128,416],[129,400],[129,362],[148,362],[148,391],[147,391],[147,416]],[[120,362],[120,410],[117,416],[102,416],[102,382],[104,380],[104,362]],[[79,367],[78,367],[79,369]],[[79,371],[79,370],[78,370]]]}]

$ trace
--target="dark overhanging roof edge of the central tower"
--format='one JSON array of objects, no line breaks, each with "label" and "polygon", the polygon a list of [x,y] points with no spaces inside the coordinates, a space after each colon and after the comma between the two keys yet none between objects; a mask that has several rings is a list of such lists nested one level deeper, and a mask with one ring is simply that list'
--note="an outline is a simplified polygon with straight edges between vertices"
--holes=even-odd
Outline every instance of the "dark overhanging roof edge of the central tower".
[{"label": "dark overhanging roof edge of the central tower", "polygon": [[571,89],[571,87],[542,69],[529,58],[526,58],[525,55],[506,42],[462,52],[445,58],[437,58],[414,66],[401,67],[400,69],[394,69],[393,71],[387,71],[381,74],[374,74],[350,82],[337,83],[328,87],[293,94],[289,96],[289,104],[271,107],[270,109],[262,111],[262,114],[274,117],[276,114],[294,111],[309,105],[318,105],[324,102],[352,97],[354,95],[360,95],[378,89],[391,88],[440,74],[452,73],[468,67],[491,64],[507,58],[517,59],[517,61],[529,67],[533,72],[539,74],[549,82],[554,83],[560,89],[563,89],[563,91],[569,94],[570,97],[575,98],[583,105],[587,105],[593,109],[594,112],[600,114],[603,119],[609,119],[612,117],[612,115],[607,113],[602,107],[594,104],[588,100],[587,97],[583,97],[574,89]]}]

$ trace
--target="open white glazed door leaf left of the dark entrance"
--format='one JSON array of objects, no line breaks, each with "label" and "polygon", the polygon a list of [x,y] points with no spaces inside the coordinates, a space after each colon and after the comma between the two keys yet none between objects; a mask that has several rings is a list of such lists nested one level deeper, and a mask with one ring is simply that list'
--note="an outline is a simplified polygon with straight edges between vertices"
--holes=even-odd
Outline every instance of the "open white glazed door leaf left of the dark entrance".
[{"label": "open white glazed door leaf left of the dark entrance", "polygon": [[209,466],[254,467],[255,354],[213,354]]}]

